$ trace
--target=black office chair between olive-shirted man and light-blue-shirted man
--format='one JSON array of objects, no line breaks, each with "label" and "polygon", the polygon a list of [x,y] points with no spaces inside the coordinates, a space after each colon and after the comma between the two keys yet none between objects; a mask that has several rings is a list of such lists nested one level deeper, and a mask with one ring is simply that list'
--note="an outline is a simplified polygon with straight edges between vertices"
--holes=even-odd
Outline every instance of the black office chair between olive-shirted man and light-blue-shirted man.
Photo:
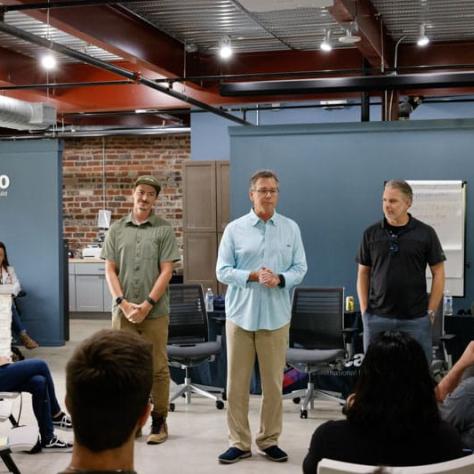
[{"label": "black office chair between olive-shirted man and light-blue-shirted man", "polygon": [[169,287],[170,324],[168,336],[168,361],[171,367],[184,369],[184,383],[178,385],[170,398],[170,410],[180,396],[191,403],[191,394],[195,393],[216,402],[216,408],[224,408],[223,388],[193,384],[189,369],[211,362],[221,350],[220,337],[209,341],[207,313],[201,285],[175,284]]}]

